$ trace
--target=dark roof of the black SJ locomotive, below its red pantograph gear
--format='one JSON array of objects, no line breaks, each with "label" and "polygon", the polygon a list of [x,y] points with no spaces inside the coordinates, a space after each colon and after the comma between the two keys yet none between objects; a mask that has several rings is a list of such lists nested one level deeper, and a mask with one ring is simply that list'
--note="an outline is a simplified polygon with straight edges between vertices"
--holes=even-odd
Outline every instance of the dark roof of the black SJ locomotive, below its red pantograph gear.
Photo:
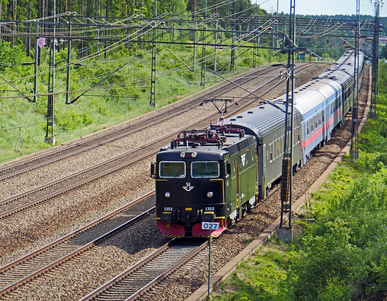
[{"label": "dark roof of the black SJ locomotive, below its red pantograph gear", "polygon": [[186,145],[180,145],[171,149],[171,145],[168,144],[161,148],[157,156],[159,160],[176,161],[177,158],[181,159],[181,152],[197,152],[197,157],[195,159],[192,158],[192,160],[219,160],[232,156],[233,154],[236,154],[236,152],[256,143],[255,137],[251,135],[245,135],[245,137],[240,139],[238,135],[231,134],[224,136],[224,138],[224,144],[220,149],[215,143],[208,143],[195,147],[194,143],[188,142],[188,149]]}]

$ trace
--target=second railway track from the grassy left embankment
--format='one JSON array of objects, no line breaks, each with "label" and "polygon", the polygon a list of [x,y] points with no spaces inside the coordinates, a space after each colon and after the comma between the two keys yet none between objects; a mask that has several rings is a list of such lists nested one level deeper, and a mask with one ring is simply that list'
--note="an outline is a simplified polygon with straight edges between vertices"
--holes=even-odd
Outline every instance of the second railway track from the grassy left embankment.
[{"label": "second railway track from the grassy left embankment", "polygon": [[[303,68],[308,68],[309,65],[304,66]],[[301,68],[302,70],[302,68]],[[271,90],[275,86],[279,85],[281,81],[276,81],[272,83],[271,86],[268,85],[272,82],[272,80],[267,81],[264,85],[257,87],[252,92],[255,93],[264,89],[264,91],[259,92],[259,96],[264,95],[267,91]],[[242,111],[245,107],[250,105],[254,99],[246,99],[250,93],[247,93],[243,97],[238,98],[237,100],[245,100],[243,105],[231,106],[229,108],[233,108],[233,112],[229,112],[227,116],[234,115],[237,112]],[[192,123],[188,125],[184,129],[179,129],[171,134],[165,135],[155,141],[152,141],[146,145],[142,145],[133,149],[131,151],[125,152],[119,156],[108,159],[104,162],[96,164],[92,167],[89,167],[83,171],[77,172],[70,176],[58,179],[51,183],[45,184],[38,188],[32,189],[30,191],[26,191],[17,196],[8,198],[0,202],[0,218],[7,218],[15,213],[21,213],[23,210],[31,208],[33,206],[37,206],[38,204],[43,204],[52,201],[55,197],[60,196],[71,189],[75,189],[82,185],[90,184],[92,181],[95,181],[107,174],[115,172],[119,169],[127,167],[131,164],[136,164],[140,162],[142,159],[150,157],[159,151],[161,147],[168,144],[172,138],[176,136],[176,134],[180,133],[182,130],[188,129],[190,127],[206,127],[209,125],[209,122],[213,121],[214,116],[217,113],[212,113],[198,122]]]}]

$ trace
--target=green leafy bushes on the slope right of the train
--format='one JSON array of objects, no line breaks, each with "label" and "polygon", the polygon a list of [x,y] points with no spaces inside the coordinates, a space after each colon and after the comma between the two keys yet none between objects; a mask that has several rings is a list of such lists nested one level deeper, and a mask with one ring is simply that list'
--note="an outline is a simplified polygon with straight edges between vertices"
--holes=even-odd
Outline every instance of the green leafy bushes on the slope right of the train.
[{"label": "green leafy bushes on the slope right of the train", "polygon": [[312,195],[316,222],[296,222],[305,230],[292,244],[272,240],[213,300],[386,298],[387,64],[379,74],[377,117],[368,119],[360,133],[360,158],[355,163],[344,157]]}]

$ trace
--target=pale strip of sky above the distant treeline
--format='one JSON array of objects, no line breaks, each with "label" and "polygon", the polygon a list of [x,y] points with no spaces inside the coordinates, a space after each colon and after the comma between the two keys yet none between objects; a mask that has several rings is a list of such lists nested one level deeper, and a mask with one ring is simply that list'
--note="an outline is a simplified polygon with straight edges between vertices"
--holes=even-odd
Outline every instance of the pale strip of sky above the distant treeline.
[{"label": "pale strip of sky above the distant treeline", "polygon": [[[290,12],[290,0],[252,0],[258,3],[260,8],[267,12]],[[380,1],[381,3],[383,0]],[[361,15],[375,15],[375,0],[360,0]],[[300,15],[355,15],[356,0],[295,0],[296,14]],[[387,5],[382,5],[379,12],[380,17],[387,17]]]}]

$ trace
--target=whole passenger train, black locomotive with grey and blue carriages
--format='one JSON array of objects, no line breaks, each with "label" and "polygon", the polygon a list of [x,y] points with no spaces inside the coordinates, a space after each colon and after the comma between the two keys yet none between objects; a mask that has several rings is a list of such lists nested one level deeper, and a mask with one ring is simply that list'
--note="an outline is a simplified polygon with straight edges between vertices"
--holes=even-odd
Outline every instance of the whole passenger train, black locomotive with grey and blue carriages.
[{"label": "whole passenger train, black locomotive with grey and blue carriages", "polygon": [[[359,63],[360,83],[364,55]],[[352,107],[354,50],[294,91],[293,169],[308,161]],[[360,85],[359,85],[360,87]],[[227,225],[263,200],[281,177],[286,95],[216,125],[184,131],[161,148],[156,180],[156,221],[166,237],[209,237],[202,222]]]}]

